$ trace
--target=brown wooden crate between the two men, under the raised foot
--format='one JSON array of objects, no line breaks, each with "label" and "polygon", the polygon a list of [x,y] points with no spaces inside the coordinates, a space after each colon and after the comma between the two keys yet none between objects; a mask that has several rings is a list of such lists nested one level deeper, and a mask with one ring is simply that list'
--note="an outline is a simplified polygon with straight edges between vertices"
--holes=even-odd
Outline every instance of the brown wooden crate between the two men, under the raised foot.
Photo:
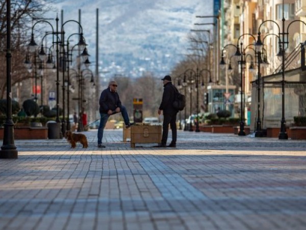
[{"label": "brown wooden crate between the two men, under the raised foot", "polygon": [[160,143],[162,140],[161,125],[132,125],[130,129],[132,148],[135,144]]}]

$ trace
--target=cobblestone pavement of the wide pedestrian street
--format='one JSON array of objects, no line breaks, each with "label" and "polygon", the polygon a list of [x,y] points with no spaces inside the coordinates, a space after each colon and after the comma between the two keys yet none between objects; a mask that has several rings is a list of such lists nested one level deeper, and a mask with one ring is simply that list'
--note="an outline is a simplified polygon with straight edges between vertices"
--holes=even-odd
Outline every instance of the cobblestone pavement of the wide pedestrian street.
[{"label": "cobblestone pavement of the wide pedestrian street", "polygon": [[179,131],[177,148],[131,148],[107,130],[98,149],[85,134],[87,149],[15,141],[0,229],[306,229],[306,141]]}]

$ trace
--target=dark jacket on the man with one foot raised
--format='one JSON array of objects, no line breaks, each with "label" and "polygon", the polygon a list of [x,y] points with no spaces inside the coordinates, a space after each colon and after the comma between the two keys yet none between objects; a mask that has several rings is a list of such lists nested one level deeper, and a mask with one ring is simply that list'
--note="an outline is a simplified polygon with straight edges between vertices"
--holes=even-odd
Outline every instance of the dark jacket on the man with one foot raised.
[{"label": "dark jacket on the man with one foot raised", "polygon": [[107,113],[109,110],[115,111],[117,107],[119,107],[121,110],[122,106],[117,91],[113,93],[110,87],[102,91],[99,100],[99,105],[100,113]]}]

